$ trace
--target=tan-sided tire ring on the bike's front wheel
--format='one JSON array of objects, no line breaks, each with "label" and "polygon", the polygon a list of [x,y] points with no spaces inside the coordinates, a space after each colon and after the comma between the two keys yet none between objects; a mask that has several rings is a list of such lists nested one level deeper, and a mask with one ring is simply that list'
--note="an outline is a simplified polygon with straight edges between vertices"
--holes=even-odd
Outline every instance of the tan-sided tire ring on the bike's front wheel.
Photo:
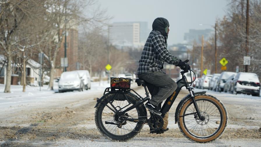
[{"label": "tan-sided tire ring on the bike's front wheel", "polygon": [[[186,136],[188,136],[190,139],[194,140],[194,141],[198,141],[198,142],[208,142],[208,141],[212,141],[214,139],[216,139],[222,132],[223,130],[225,129],[225,126],[226,126],[226,111],[225,109],[223,108],[222,104],[217,101],[216,99],[214,99],[213,97],[209,97],[209,96],[206,96],[206,95],[199,95],[199,96],[195,96],[195,99],[199,99],[199,98],[207,98],[207,99],[210,99],[212,101],[214,101],[221,109],[222,111],[222,114],[223,114],[223,124],[221,126],[221,129],[219,129],[219,131],[214,135],[214,136],[211,136],[209,138],[206,138],[206,139],[199,139],[199,138],[196,138],[195,136],[192,136],[191,134],[189,134],[187,132],[187,130],[185,129],[184,127],[184,124],[183,124],[183,117],[179,117],[179,123],[180,123],[180,127],[182,129],[182,131],[186,134]],[[179,115],[183,115],[184,113],[184,110],[186,108],[186,106],[192,101],[192,99],[189,99],[181,108],[181,111],[179,113]]]}]

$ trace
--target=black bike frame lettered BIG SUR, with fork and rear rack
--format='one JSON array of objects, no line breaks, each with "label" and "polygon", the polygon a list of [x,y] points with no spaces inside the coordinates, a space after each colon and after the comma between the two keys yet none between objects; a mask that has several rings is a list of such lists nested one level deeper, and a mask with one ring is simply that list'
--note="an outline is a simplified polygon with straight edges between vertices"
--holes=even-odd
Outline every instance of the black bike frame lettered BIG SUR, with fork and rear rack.
[{"label": "black bike frame lettered BIG SUR, with fork and rear rack", "polygon": [[[188,89],[188,91],[190,92],[191,99],[193,100],[193,104],[194,104],[195,110],[196,110],[195,113],[197,113],[199,119],[202,119],[201,114],[200,114],[200,111],[199,111],[198,106],[197,106],[196,101],[195,101],[194,92],[192,91],[192,88],[189,87],[187,78],[186,78],[186,76],[184,75],[183,72],[181,72],[181,75],[182,75],[182,78],[181,78],[179,81],[177,81],[177,85],[178,85],[178,86],[177,86],[177,89],[172,93],[172,95],[171,95],[170,97],[168,97],[168,98],[166,99],[165,103],[163,104],[163,106],[162,106],[162,108],[161,108],[161,111],[160,111],[160,112],[162,113],[161,116],[164,117],[164,115],[170,110],[170,108],[171,108],[172,104],[174,103],[175,99],[177,98],[177,96],[178,96],[178,94],[179,94],[181,88],[182,88],[182,87],[186,87],[186,89]],[[145,98],[142,98],[142,97],[141,97],[139,94],[137,94],[137,92],[135,92],[133,89],[119,89],[119,90],[116,90],[116,89],[114,89],[114,88],[111,88],[112,90],[109,91],[110,88],[106,88],[106,90],[105,90],[104,93],[103,93],[103,95],[104,95],[104,97],[105,97],[106,99],[107,99],[107,97],[105,96],[105,92],[112,92],[112,93],[116,92],[116,93],[121,93],[121,94],[123,94],[123,95],[125,96],[126,100],[130,103],[130,101],[128,100],[128,98],[126,97],[125,94],[128,93],[128,92],[130,92],[130,91],[133,91],[133,92],[135,92],[135,94],[138,96],[138,99],[137,99],[137,100],[139,100],[139,101],[138,101],[137,103],[135,103],[135,104],[133,104],[133,103],[135,102],[135,101],[133,101],[132,103],[126,105],[125,107],[127,107],[127,106],[133,104],[132,106],[130,106],[130,107],[127,108],[126,110],[121,111],[121,110],[124,109],[125,107],[123,107],[123,108],[117,110],[117,109],[112,105],[112,102],[114,101],[114,99],[115,99],[115,97],[116,97],[116,95],[115,95],[114,98],[112,99],[112,101],[109,101],[109,100],[107,99],[107,101],[110,103],[110,105],[112,106],[112,108],[113,108],[114,110],[113,110],[112,108],[110,108],[109,106],[107,106],[107,105],[106,105],[106,106],[107,106],[108,108],[110,108],[114,113],[117,113],[117,114],[119,114],[120,116],[121,116],[121,114],[125,114],[126,112],[130,111],[131,109],[136,108],[138,105],[140,105],[140,104],[144,103],[145,101],[149,100],[149,92],[148,92],[148,90],[147,90],[147,87],[146,87],[146,85],[142,85],[142,86],[144,87],[145,92],[146,92],[146,93],[145,93],[145,94],[146,94],[146,97],[145,97]],[[137,100],[136,100],[136,101],[137,101]],[[98,101],[99,101],[99,99],[97,98],[97,102],[98,102]],[[97,103],[97,104],[98,104],[98,103]],[[96,107],[96,106],[95,106],[95,107]],[[195,114],[195,113],[189,113],[189,114],[186,114],[186,115],[191,115],[191,114]],[[184,115],[184,116],[186,116],[186,115]],[[180,116],[180,117],[181,117],[181,116]],[[143,122],[143,123],[147,123],[147,121],[148,121],[148,119],[134,119],[134,118],[124,118],[124,120],[133,121],[133,122]]]}]

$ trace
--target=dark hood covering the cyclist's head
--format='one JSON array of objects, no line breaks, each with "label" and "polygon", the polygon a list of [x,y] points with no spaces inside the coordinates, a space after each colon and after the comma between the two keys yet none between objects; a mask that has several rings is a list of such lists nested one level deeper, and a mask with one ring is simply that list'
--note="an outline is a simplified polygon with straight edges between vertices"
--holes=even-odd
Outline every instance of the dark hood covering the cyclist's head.
[{"label": "dark hood covering the cyclist's head", "polygon": [[167,36],[167,31],[170,24],[169,21],[163,17],[158,17],[152,23],[152,29],[160,31],[163,36]]}]

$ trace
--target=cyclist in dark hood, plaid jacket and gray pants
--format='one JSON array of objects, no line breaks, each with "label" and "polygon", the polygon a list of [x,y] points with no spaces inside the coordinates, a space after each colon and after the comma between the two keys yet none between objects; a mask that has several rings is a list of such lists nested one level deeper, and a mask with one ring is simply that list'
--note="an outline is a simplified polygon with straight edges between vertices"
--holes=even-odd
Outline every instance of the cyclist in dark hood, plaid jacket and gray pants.
[{"label": "cyclist in dark hood, plaid jacket and gray pants", "polygon": [[181,67],[184,71],[190,69],[186,62],[173,56],[167,50],[169,26],[169,22],[165,18],[158,17],[154,20],[152,31],[141,54],[137,72],[138,78],[147,82],[151,94],[151,100],[145,104],[145,107],[157,115],[161,115],[158,110],[159,104],[177,89],[177,83],[162,71],[164,62]]}]

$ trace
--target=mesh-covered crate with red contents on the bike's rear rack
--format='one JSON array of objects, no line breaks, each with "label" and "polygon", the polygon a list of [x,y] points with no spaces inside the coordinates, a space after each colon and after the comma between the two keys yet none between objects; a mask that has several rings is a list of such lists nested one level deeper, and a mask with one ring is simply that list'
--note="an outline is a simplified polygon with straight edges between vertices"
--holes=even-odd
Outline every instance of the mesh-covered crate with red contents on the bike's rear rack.
[{"label": "mesh-covered crate with red contents on the bike's rear rack", "polygon": [[114,88],[131,88],[132,79],[129,78],[112,78],[111,87]]}]

